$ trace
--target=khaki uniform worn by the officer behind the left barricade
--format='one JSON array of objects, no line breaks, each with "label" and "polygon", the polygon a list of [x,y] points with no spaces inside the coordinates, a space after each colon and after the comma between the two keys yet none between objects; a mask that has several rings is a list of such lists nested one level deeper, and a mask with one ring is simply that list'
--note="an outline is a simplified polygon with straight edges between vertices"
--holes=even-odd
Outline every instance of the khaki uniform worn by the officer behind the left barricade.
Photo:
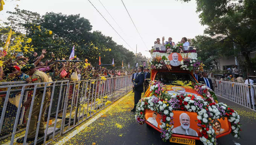
[{"label": "khaki uniform worn by the officer behind the left barricade", "polygon": [[[48,81],[49,81],[49,78],[46,75],[46,73],[41,72],[39,70],[36,70],[32,75],[33,83],[48,82]],[[37,87],[44,87],[44,84],[37,85]],[[44,89],[40,89],[36,92],[27,138],[35,138],[35,134],[37,131],[37,121],[40,114],[40,108],[41,108],[41,103],[43,99],[43,91]],[[50,91],[49,91],[49,88],[47,88],[45,93],[44,103],[43,103],[43,111],[40,118],[41,121],[40,121],[39,132],[38,132],[40,134],[43,134],[45,130],[44,112],[46,111],[49,99],[50,99]],[[26,111],[26,114],[25,114],[26,122],[28,120],[28,116],[29,116],[29,109]]]}]

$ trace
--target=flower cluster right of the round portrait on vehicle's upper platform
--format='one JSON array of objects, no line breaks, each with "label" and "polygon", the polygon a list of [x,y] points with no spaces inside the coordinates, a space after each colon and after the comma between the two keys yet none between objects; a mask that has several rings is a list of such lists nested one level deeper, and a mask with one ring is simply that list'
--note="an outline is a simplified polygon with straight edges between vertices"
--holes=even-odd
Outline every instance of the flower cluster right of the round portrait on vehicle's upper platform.
[{"label": "flower cluster right of the round portrait on vehicle's upper platform", "polygon": [[183,60],[181,60],[180,62],[181,64],[181,69],[183,70],[200,70],[203,71],[203,66],[204,64],[200,61],[193,58],[183,58]]}]

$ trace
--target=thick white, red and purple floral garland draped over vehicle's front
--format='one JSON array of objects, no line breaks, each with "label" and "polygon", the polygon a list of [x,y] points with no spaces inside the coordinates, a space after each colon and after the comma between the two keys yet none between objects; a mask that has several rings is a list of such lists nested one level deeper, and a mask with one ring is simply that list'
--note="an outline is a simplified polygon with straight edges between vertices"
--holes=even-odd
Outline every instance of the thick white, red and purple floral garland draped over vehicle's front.
[{"label": "thick white, red and purple floral garland draped over vehicle's front", "polygon": [[200,127],[198,136],[204,145],[216,145],[215,130],[211,124],[212,120],[215,119],[227,117],[231,123],[232,135],[235,138],[240,137],[240,116],[226,104],[217,103],[213,99],[214,96],[211,93],[210,95],[208,94],[208,92],[211,92],[208,87],[203,87],[200,84],[193,85],[194,89],[202,94],[203,97],[201,97],[184,93],[169,94],[165,91],[165,86],[157,81],[151,82],[150,85],[152,85],[149,86],[150,91],[155,92],[157,90],[160,93],[155,92],[154,95],[141,99],[137,104],[135,117],[139,124],[143,124],[145,122],[146,109],[162,114],[160,131],[163,141],[170,139],[173,133],[174,122],[172,120],[174,114],[172,111],[175,110],[197,113],[197,126]]}]

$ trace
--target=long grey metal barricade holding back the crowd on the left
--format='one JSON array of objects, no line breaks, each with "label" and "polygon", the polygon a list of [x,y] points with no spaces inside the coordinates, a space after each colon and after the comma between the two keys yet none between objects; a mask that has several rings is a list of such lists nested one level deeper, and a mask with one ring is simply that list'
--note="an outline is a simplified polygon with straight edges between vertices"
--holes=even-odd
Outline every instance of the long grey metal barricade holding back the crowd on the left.
[{"label": "long grey metal barricade holding back the crowd on the left", "polygon": [[[25,145],[27,138],[34,137],[32,144],[50,144],[131,91],[131,77],[3,84],[0,140],[8,140],[7,144],[12,145],[24,137]],[[30,99],[31,103],[24,106]]]}]

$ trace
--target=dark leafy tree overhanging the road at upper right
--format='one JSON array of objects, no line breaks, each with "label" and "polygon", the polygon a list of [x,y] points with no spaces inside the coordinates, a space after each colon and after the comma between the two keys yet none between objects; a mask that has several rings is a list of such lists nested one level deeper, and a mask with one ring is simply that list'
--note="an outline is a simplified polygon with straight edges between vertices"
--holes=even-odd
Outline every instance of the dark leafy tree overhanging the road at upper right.
[{"label": "dark leafy tree overhanging the road at upper right", "polygon": [[232,42],[238,49],[236,51],[244,56],[249,72],[253,73],[249,55],[256,49],[255,0],[196,1],[200,23],[208,26],[204,32],[210,36],[221,36],[225,42]]}]

